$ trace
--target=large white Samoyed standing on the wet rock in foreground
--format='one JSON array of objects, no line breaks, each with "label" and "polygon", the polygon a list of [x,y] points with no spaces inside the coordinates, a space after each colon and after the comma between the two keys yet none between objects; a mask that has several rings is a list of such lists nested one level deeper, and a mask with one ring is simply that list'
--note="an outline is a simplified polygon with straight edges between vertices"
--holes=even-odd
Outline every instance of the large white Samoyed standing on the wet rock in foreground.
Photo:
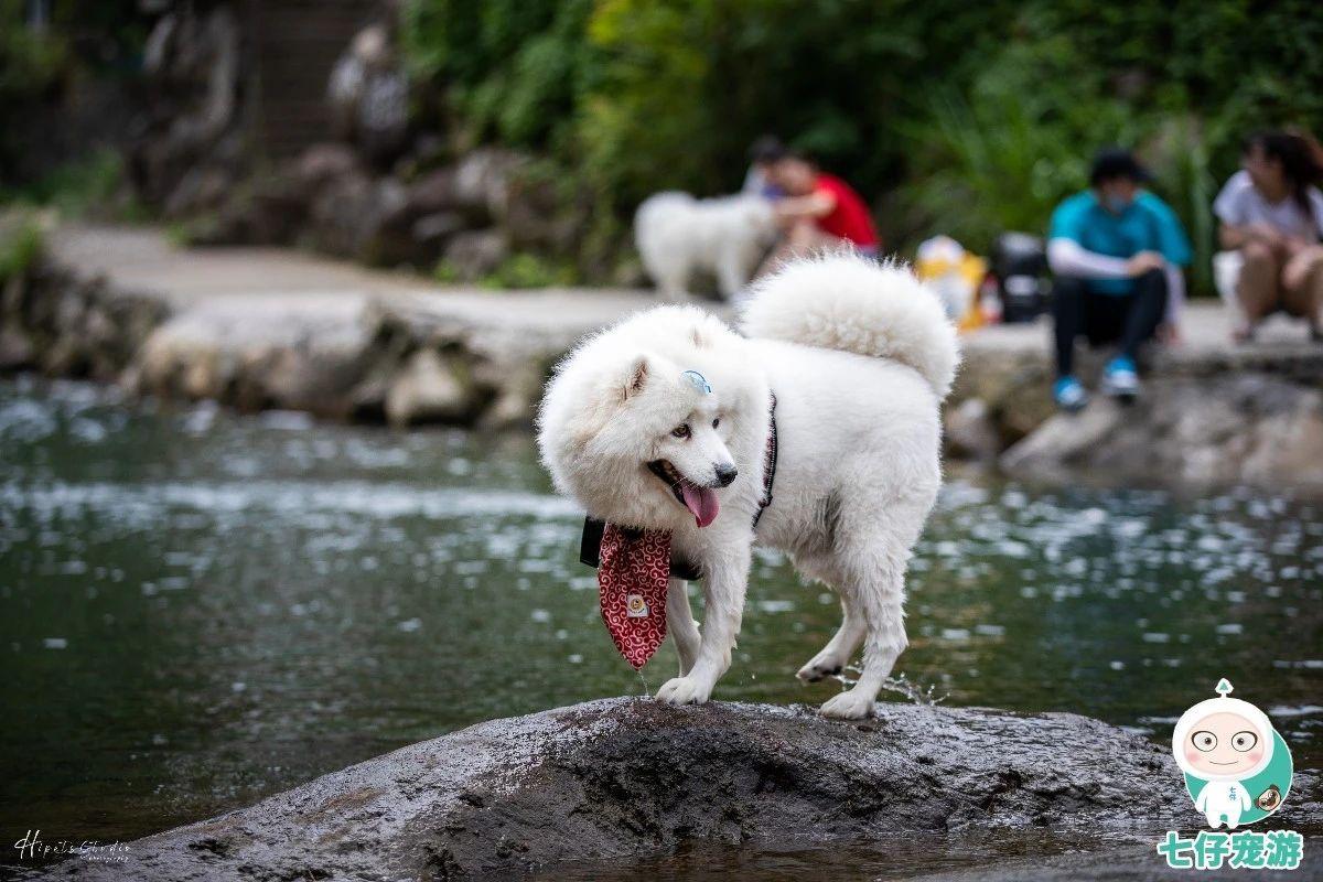
[{"label": "large white Samoyed standing on the wet rock in foreground", "polygon": [[668,584],[680,676],[659,700],[701,703],[730,666],[759,542],[840,595],[840,629],[798,676],[836,673],[863,644],[863,674],[822,713],[867,717],[908,644],[905,569],[942,481],[955,329],[908,268],[831,254],[759,282],[742,331],[664,305],[585,339],[548,382],[542,461],[589,514],[669,530],[701,573],[701,635],[685,583]]}]

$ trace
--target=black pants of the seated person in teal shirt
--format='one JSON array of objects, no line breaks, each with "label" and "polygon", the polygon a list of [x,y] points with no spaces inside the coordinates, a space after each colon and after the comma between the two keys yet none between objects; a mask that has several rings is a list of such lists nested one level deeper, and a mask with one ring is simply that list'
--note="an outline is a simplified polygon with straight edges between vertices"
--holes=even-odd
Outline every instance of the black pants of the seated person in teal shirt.
[{"label": "black pants of the seated person in teal shirt", "polygon": [[1121,354],[1134,358],[1139,344],[1158,331],[1167,311],[1167,276],[1150,270],[1135,279],[1130,294],[1097,294],[1084,279],[1058,275],[1053,284],[1052,315],[1057,331],[1057,376],[1074,372],[1074,341],[1084,335],[1090,346],[1119,342]]}]

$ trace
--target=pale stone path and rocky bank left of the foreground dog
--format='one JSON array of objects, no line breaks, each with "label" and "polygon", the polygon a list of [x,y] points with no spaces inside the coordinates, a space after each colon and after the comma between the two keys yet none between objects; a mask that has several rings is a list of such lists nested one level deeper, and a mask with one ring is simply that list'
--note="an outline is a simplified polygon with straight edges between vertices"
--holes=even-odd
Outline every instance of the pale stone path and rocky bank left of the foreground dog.
[{"label": "pale stone path and rocky bank left of the foreground dog", "polygon": [[525,426],[578,337],[654,303],[438,290],[294,251],[179,251],[149,230],[60,229],[7,287],[0,370],[331,419]]}]

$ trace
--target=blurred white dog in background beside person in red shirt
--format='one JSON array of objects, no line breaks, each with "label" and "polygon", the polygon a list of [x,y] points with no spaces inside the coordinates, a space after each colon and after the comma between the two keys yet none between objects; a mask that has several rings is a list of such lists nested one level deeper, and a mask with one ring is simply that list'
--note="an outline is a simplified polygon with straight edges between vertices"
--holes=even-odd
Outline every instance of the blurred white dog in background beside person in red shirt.
[{"label": "blurred white dog in background beside person in red shirt", "polygon": [[771,202],[761,196],[696,200],[658,193],[634,216],[634,242],[658,291],[685,300],[695,272],[709,272],[726,300],[749,283],[777,239]]}]

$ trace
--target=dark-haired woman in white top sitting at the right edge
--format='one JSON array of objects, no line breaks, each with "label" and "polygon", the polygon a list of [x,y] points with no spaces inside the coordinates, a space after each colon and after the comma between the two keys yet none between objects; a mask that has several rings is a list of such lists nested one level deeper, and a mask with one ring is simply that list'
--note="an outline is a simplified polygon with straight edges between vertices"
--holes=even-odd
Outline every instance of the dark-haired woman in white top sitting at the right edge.
[{"label": "dark-haired woman in white top sitting at the right edge", "polygon": [[1323,340],[1320,181],[1318,143],[1301,134],[1262,132],[1245,143],[1241,171],[1217,194],[1218,239],[1241,263],[1237,340],[1249,340],[1258,321],[1278,309],[1308,321],[1314,339]]}]

